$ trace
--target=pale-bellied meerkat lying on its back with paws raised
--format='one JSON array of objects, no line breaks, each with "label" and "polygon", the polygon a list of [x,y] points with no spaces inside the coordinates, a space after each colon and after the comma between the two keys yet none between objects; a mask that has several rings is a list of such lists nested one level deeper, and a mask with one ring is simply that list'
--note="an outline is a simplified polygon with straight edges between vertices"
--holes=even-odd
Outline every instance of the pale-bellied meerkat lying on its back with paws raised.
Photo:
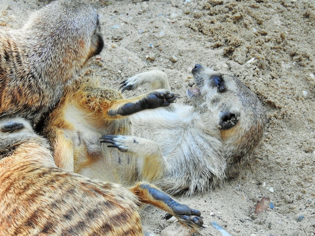
[{"label": "pale-bellied meerkat lying on its back with paws raised", "polygon": [[[82,90],[66,92],[44,132],[57,165],[127,185],[148,181],[171,194],[202,193],[222,184],[252,160],[266,113],[237,78],[201,65],[192,73],[197,85],[187,91],[192,105],[174,103],[137,112],[154,99],[146,94],[129,101],[118,91],[102,88],[88,89],[86,95]],[[135,89],[143,83],[170,88],[161,71],[135,75],[122,87]],[[118,107],[123,107],[120,112]],[[101,142],[124,153],[102,146],[102,134],[107,136]]]}]

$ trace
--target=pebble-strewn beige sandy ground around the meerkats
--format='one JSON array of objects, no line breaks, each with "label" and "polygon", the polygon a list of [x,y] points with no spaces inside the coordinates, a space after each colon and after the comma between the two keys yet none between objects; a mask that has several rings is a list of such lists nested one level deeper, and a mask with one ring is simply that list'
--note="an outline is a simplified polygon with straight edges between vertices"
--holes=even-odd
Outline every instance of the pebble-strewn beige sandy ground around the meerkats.
[{"label": "pebble-strewn beige sandy ground around the meerkats", "polygon": [[[267,109],[266,134],[250,166],[207,194],[178,197],[202,211],[207,227],[194,235],[221,235],[212,221],[230,235],[314,235],[315,3],[85,1],[100,15],[105,48],[89,68],[104,86],[118,88],[122,79],[161,69],[181,94],[177,102],[185,102],[190,70],[200,63],[238,76]],[[1,0],[0,25],[18,27],[44,4]],[[264,196],[273,209],[257,215],[255,207]],[[192,234],[179,223],[166,222],[164,215],[145,208],[144,229]]]}]

